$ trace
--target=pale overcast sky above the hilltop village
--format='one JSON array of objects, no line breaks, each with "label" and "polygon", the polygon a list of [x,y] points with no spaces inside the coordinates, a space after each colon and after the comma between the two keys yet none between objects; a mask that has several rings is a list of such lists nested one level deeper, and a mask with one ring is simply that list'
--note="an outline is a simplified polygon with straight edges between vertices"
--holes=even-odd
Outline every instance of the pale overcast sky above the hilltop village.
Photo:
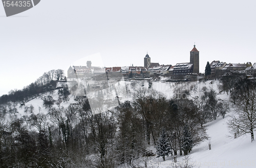
[{"label": "pale overcast sky above the hilltop village", "polygon": [[200,72],[207,61],[254,63],[255,9],[254,0],[41,0],[6,17],[0,5],[0,95],[92,54],[106,67],[143,66],[146,52],[175,65],[189,62],[196,42]]}]

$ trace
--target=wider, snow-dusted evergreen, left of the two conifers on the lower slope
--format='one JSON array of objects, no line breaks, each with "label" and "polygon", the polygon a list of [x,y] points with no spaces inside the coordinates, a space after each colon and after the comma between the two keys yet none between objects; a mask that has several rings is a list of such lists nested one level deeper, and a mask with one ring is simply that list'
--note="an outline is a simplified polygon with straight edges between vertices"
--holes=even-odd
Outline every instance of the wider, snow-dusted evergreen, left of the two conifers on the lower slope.
[{"label": "wider, snow-dusted evergreen, left of the two conifers on the lower slope", "polygon": [[169,137],[166,133],[166,130],[163,129],[161,132],[161,135],[157,141],[157,157],[162,156],[163,160],[165,160],[165,156],[168,156],[170,153],[172,153],[172,149],[170,147],[170,141],[169,141]]}]

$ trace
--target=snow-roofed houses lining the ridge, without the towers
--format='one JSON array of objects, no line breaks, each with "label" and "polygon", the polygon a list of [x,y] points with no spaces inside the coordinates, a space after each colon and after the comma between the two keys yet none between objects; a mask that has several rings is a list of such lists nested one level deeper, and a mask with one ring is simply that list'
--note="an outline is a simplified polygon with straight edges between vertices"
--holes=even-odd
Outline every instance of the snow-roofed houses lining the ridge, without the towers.
[{"label": "snow-roofed houses lining the ridge, without the towers", "polygon": [[[230,71],[243,71],[248,76],[256,74],[256,63],[253,65],[250,62],[246,64],[236,64],[212,61],[210,63],[211,78],[220,77]],[[166,75],[166,76],[183,76],[193,74],[193,64],[190,63],[178,63],[175,66],[172,65],[157,65],[150,68],[141,66],[127,66],[127,67],[88,67],[88,66],[72,66],[68,70],[68,78],[74,77],[86,77],[93,75],[100,75],[103,73],[115,74],[121,73],[124,76],[142,76],[148,77],[153,75]]]}]

